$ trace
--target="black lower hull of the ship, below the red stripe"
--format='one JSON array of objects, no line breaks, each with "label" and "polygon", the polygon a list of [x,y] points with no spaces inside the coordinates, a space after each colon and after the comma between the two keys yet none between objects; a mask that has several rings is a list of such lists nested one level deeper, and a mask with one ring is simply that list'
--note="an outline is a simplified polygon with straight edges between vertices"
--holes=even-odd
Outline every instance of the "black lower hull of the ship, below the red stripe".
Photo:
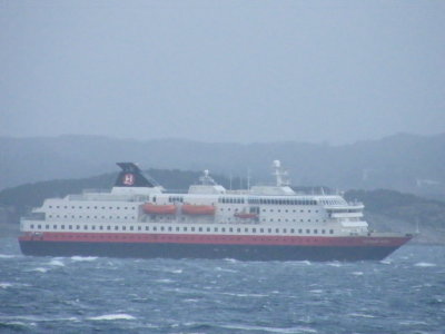
[{"label": "black lower hull of the ship, below the red stripe", "polygon": [[24,255],[135,258],[234,258],[240,261],[379,261],[402,245],[212,245],[20,240]]}]

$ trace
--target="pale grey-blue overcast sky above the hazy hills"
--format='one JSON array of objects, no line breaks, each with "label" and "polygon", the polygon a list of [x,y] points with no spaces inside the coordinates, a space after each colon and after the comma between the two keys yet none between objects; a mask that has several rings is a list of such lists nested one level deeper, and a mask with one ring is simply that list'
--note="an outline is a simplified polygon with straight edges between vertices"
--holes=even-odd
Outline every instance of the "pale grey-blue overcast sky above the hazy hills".
[{"label": "pale grey-blue overcast sky above the hazy hills", "polygon": [[0,0],[0,136],[445,131],[445,1]]}]

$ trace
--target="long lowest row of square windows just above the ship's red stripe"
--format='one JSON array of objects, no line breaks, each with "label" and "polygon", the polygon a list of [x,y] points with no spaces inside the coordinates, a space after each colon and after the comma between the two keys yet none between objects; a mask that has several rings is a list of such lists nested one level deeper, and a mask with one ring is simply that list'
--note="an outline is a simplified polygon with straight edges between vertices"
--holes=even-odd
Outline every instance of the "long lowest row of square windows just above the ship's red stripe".
[{"label": "long lowest row of square windows just above the ship's red stripe", "polygon": [[[81,225],[76,225],[76,229],[81,229]],[[92,226],[90,226],[91,228],[91,230],[96,230],[96,225],[92,225]],[[108,225],[108,226],[103,226],[103,225],[99,225],[98,226],[99,228],[99,230],[119,230],[119,226],[117,226],[117,225],[115,225],[115,226],[110,226],[110,225]],[[112,228],[113,227],[113,228]],[[34,225],[33,224],[31,224],[30,225],[30,228],[31,229],[34,229]],[[37,225],[37,229],[42,229],[42,225]],[[44,225],[44,229],[50,229],[50,225],[49,224],[47,224],[47,225]],[[52,229],[58,229],[58,225],[52,225]],[[60,225],[60,229],[65,229],[65,225]],[[68,225],[68,229],[73,229],[73,225]],[[83,230],[88,230],[89,229],[89,227],[88,227],[88,225],[83,225]],[[135,226],[129,226],[129,228],[127,229],[127,226],[121,226],[120,227],[120,230],[136,230],[135,229]],[[142,230],[142,227],[141,226],[138,226],[138,228],[137,228],[137,230]],[[315,228],[315,229],[309,229],[309,228],[306,228],[306,229],[304,229],[304,228],[298,228],[298,229],[296,229],[296,228],[258,228],[258,227],[253,227],[253,228],[249,228],[249,227],[244,227],[244,228],[241,228],[241,227],[237,227],[237,228],[235,228],[235,227],[228,227],[228,228],[226,228],[226,227],[214,227],[212,228],[212,230],[211,230],[211,227],[186,227],[186,226],[184,226],[184,227],[179,227],[179,226],[176,226],[175,228],[172,227],[172,226],[168,226],[168,227],[166,227],[166,226],[160,226],[159,227],[159,229],[158,229],[158,227],[157,226],[152,226],[151,228],[150,228],[150,226],[145,226],[145,230],[152,230],[152,232],[157,232],[157,230],[160,230],[160,232],[166,232],[166,230],[168,230],[168,232],[216,232],[216,233],[218,233],[218,232],[221,232],[221,233],[225,233],[225,232],[229,232],[229,233],[283,233],[283,234],[287,234],[288,233],[288,230],[289,230],[289,233],[290,234],[295,234],[296,232],[298,233],[298,234],[303,234],[303,233],[306,233],[306,234],[310,234],[310,233],[313,233],[313,234],[318,234],[318,229],[317,228]],[[319,232],[320,232],[320,234],[326,234],[327,233],[327,230],[326,229],[319,229]],[[329,229],[328,230],[329,232],[329,234],[334,234],[334,229]]]}]

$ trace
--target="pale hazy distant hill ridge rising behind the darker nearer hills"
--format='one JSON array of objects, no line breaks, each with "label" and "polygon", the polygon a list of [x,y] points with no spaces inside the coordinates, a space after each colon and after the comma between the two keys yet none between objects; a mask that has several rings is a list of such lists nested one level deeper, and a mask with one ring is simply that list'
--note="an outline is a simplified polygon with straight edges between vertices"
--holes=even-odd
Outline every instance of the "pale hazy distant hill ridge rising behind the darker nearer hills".
[{"label": "pale hazy distant hill ridge rising behind the darker nearer hills", "polygon": [[266,180],[280,159],[293,184],[339,189],[388,188],[445,198],[445,134],[396,135],[329,146],[305,143],[199,143],[106,137],[0,138],[0,189],[39,180],[113,171],[117,161],[144,169],[202,170]]}]

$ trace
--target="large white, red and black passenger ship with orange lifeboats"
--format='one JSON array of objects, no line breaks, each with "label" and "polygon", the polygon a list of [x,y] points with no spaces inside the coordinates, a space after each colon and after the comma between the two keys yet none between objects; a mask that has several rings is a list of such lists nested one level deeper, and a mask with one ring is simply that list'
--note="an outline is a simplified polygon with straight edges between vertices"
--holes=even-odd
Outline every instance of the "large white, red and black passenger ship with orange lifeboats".
[{"label": "large white, red and black passenger ship with orange lifeboats", "polygon": [[274,161],[275,184],[226,189],[205,170],[188,191],[166,191],[134,163],[107,191],[46,199],[20,222],[24,255],[240,261],[378,261],[412,235],[377,233],[364,205],[295,191]]}]

